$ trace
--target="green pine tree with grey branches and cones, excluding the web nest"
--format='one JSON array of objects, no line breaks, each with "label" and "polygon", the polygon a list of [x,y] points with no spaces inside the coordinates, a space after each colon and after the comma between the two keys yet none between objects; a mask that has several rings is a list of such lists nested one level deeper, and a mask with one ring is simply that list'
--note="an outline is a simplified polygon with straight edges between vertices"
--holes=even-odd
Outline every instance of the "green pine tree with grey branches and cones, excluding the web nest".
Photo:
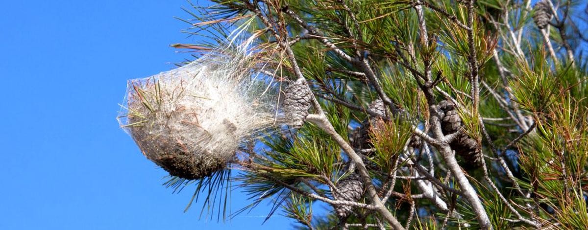
[{"label": "green pine tree with grey branches and cones, excluding the web nest", "polygon": [[174,46],[245,31],[283,123],[167,185],[220,208],[237,182],[233,215],[270,202],[304,229],[588,226],[585,2],[213,2],[183,19],[206,42]]}]

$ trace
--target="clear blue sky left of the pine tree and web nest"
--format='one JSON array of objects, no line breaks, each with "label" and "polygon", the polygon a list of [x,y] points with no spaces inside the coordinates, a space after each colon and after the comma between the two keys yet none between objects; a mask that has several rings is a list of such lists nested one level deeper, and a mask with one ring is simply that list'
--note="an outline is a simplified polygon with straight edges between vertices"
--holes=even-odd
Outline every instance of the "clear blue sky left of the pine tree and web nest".
[{"label": "clear blue sky left of the pine tree and web nest", "polygon": [[[199,1],[193,1],[199,4]],[[0,229],[283,229],[268,206],[232,224],[183,213],[115,120],[126,80],[172,68],[185,1],[3,1]],[[233,192],[233,210],[248,204]],[[253,217],[252,217],[253,216]]]}]

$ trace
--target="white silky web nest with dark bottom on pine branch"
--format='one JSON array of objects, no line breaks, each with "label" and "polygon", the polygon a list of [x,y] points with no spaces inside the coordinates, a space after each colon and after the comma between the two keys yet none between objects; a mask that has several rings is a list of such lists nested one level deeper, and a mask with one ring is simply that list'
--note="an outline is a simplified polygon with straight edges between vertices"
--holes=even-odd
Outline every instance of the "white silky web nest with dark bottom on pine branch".
[{"label": "white silky web nest with dark bottom on pine branch", "polygon": [[225,168],[243,140],[275,126],[277,93],[252,69],[249,44],[129,80],[121,127],[171,175],[194,180]]}]

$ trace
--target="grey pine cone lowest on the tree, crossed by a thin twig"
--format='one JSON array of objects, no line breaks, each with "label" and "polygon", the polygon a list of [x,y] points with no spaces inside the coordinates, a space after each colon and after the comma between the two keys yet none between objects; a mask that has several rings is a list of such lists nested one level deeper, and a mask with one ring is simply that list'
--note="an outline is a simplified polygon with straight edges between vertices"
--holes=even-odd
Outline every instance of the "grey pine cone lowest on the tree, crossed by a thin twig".
[{"label": "grey pine cone lowest on the tree, crossed by a thin twig", "polygon": [[[364,187],[362,178],[358,174],[353,173],[349,177],[339,181],[337,190],[338,192],[333,192],[335,199],[357,202],[363,196]],[[348,217],[352,211],[353,207],[349,205],[335,206],[335,213],[339,218]]]}]

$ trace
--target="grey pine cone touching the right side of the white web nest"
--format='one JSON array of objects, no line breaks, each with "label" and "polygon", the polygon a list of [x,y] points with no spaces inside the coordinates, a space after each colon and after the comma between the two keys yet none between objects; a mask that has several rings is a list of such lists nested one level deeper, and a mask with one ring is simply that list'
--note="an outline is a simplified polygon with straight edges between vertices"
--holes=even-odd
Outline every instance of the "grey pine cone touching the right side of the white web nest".
[{"label": "grey pine cone touching the right side of the white web nest", "polygon": [[303,80],[296,80],[286,86],[284,89],[284,112],[289,120],[289,123],[295,127],[300,128],[304,124],[306,116],[308,116],[308,109],[310,109],[310,100],[312,100],[312,92]]}]

